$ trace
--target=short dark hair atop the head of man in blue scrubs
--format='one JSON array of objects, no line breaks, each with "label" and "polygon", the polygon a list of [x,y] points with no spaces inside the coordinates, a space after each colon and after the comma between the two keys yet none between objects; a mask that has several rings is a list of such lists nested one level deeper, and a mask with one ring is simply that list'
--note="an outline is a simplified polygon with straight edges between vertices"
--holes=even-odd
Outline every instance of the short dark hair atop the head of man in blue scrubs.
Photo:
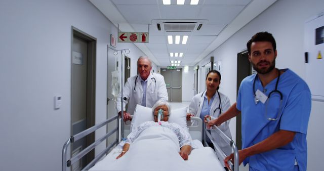
[{"label": "short dark hair atop the head of man in blue scrubs", "polygon": [[252,38],[247,42],[247,48],[248,48],[248,53],[251,54],[251,45],[252,42],[256,41],[269,41],[272,44],[273,51],[276,50],[276,44],[274,37],[272,36],[271,33],[268,32],[258,32],[252,36]]}]

